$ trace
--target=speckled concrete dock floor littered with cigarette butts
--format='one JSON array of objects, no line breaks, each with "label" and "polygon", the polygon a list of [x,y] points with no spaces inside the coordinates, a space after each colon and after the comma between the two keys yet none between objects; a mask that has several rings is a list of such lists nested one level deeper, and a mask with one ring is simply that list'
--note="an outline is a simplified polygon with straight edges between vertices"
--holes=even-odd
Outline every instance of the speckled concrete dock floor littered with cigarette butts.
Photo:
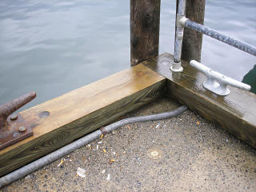
[{"label": "speckled concrete dock floor littered with cigarette butts", "polygon": [[[177,106],[163,98],[127,117]],[[187,110],[122,126],[2,191],[256,191],[256,150]]]}]

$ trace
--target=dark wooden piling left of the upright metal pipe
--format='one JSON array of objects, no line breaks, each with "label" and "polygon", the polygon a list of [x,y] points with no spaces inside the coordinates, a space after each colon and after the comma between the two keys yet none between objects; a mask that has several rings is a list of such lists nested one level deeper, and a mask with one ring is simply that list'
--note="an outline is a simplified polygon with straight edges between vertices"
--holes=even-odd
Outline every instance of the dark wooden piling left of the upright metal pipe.
[{"label": "dark wooden piling left of the upright metal pipe", "polygon": [[130,66],[158,55],[161,0],[130,0]]}]

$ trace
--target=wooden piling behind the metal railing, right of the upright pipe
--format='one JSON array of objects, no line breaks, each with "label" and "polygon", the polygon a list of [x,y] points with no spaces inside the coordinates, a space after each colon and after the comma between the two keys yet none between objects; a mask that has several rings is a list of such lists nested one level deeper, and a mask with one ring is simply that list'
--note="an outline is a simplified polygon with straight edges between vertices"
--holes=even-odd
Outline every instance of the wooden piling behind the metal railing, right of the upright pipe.
[{"label": "wooden piling behind the metal railing, right of the upright pipe", "polygon": [[[176,13],[178,9],[178,0],[176,4]],[[198,22],[203,25],[205,18],[206,0],[187,0],[186,1],[186,18],[193,22]],[[198,62],[201,61],[202,50],[202,34],[190,30],[185,27],[183,43],[182,43],[182,59],[190,62],[194,59]]]}]

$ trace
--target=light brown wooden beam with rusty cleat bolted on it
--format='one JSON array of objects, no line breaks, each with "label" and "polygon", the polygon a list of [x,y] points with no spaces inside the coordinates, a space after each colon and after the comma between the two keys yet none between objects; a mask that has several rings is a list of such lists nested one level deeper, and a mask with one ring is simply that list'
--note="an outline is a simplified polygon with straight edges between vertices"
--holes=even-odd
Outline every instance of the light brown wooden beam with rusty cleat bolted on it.
[{"label": "light brown wooden beam with rusty cleat bolted on it", "polygon": [[[22,111],[34,135],[0,150],[0,176],[153,101],[165,83],[162,75],[140,64]],[[50,115],[43,117],[44,111]]]}]

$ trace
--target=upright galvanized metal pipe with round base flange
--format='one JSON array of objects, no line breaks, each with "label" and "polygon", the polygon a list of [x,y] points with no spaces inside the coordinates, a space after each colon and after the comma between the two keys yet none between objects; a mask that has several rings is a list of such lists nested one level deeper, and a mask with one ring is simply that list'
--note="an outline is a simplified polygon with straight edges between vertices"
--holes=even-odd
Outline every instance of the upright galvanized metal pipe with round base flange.
[{"label": "upright galvanized metal pipe with round base flange", "polygon": [[178,1],[178,14],[176,17],[176,34],[174,42],[174,64],[170,67],[170,70],[174,72],[181,72],[183,70],[181,66],[181,56],[182,56],[182,41],[183,41],[183,31],[184,26],[179,24],[180,18],[185,17],[186,10],[186,0]]}]

